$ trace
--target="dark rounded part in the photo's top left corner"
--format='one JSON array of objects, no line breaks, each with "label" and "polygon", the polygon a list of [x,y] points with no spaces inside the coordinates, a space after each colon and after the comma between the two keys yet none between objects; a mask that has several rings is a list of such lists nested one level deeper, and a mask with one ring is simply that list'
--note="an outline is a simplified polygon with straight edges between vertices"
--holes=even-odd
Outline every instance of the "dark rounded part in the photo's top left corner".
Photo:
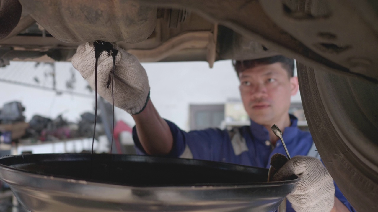
[{"label": "dark rounded part in the photo's top left corner", "polygon": [[18,0],[0,0],[0,40],[8,36],[19,23],[21,11]]}]

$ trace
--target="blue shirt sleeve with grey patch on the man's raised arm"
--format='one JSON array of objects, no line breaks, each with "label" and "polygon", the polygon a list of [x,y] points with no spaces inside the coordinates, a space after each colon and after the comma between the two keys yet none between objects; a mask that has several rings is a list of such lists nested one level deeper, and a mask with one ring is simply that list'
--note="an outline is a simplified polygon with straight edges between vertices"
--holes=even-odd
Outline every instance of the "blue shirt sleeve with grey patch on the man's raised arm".
[{"label": "blue shirt sleeve with grey patch on the man's raised arm", "polygon": [[[166,122],[173,137],[172,150],[166,155],[167,157],[180,157],[189,148],[193,159],[216,160],[215,158],[220,154],[221,144],[224,140],[229,139],[227,132],[220,129],[185,132],[176,124],[168,120]],[[146,155],[135,127],[133,128],[133,140],[137,154]]]}]

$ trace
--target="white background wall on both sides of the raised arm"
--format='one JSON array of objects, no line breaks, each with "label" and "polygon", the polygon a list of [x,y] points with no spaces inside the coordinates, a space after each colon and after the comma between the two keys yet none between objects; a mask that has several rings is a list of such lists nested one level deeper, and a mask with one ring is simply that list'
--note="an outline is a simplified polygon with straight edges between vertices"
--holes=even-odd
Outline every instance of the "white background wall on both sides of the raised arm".
[{"label": "white background wall on both sides of the raised arm", "polygon": [[[3,74],[13,73],[15,80],[32,79],[37,73],[42,79],[41,68],[33,62],[11,62],[0,68]],[[149,76],[151,99],[163,118],[173,121],[181,129],[189,129],[189,104],[225,103],[228,98],[240,98],[239,81],[231,61],[217,61],[212,69],[207,62],[143,63]],[[57,88],[65,88],[65,80],[70,77],[71,63],[56,63]],[[11,71],[11,72],[10,72]],[[22,74],[24,73],[24,74]],[[86,81],[75,70],[74,91],[90,94],[85,90]],[[30,80],[29,80],[30,82]],[[27,120],[34,114],[55,118],[63,113],[70,121],[76,121],[83,112],[94,111],[93,98],[70,94],[56,95],[51,91],[28,88],[0,81],[0,107],[9,101],[21,101],[25,106]],[[292,101],[300,101],[299,94]],[[121,109],[116,110],[116,118],[134,125],[132,117]]]}]

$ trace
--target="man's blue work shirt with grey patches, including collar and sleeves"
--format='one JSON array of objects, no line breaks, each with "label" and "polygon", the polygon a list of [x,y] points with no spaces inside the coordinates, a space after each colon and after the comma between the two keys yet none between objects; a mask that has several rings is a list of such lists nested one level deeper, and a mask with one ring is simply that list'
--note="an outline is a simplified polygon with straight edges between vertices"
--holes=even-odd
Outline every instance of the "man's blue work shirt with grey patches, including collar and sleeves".
[{"label": "man's blue work shirt with grey patches, including collar and sleeves", "polygon": [[[309,132],[297,128],[297,118],[290,115],[291,126],[285,128],[283,140],[291,157],[309,155],[314,151],[313,140]],[[167,120],[166,120],[167,121]],[[170,121],[167,124],[172,132],[173,147],[167,157],[186,157],[198,160],[211,160],[235,163],[246,166],[270,167],[270,158],[276,153],[286,155],[282,141],[278,140],[276,147],[272,147],[268,130],[251,120],[250,126],[237,128],[244,139],[232,139],[228,130],[205,129],[185,132]],[[136,152],[146,155],[139,142],[136,128],[133,128],[133,139]],[[242,142],[240,142],[242,140]],[[335,196],[350,210],[355,211],[335,184]],[[287,212],[294,211],[287,202]]]}]

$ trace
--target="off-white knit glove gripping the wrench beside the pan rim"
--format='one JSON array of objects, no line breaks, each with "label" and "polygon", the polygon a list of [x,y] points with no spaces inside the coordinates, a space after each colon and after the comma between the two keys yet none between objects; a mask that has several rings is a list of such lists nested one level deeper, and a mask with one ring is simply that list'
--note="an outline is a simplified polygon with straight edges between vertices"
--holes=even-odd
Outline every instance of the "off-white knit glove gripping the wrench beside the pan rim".
[{"label": "off-white knit glove gripping the wrench beside the pan rim", "polygon": [[[274,156],[272,160],[272,166],[274,163],[281,163],[274,161]],[[295,156],[274,174],[273,181],[285,180],[293,174],[298,175],[301,180],[287,199],[296,212],[329,212],[332,209],[335,186],[331,175],[320,160],[314,157]]]}]

